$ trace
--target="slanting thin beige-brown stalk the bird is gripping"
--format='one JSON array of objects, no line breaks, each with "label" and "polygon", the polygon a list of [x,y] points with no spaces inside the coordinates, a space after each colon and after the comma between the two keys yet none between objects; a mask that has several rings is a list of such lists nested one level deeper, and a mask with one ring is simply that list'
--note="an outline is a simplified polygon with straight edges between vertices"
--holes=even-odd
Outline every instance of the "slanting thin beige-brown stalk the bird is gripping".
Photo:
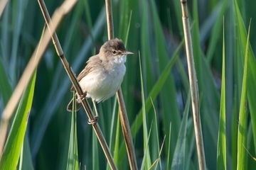
[{"label": "slanting thin beige-brown stalk the bird is gripping", "polygon": [[[68,73],[68,77],[70,77],[70,80],[72,81],[72,84],[75,87],[75,91],[78,92],[78,95],[82,96],[83,91],[80,87],[80,84],[78,83],[78,80],[76,79],[75,74],[73,73],[73,71],[70,67],[70,64],[68,64],[67,60],[65,59],[62,47],[60,45],[60,42],[58,40],[58,37],[57,37],[55,31],[52,30],[53,23],[50,21],[50,16],[49,16],[48,10],[46,8],[46,4],[44,3],[43,0],[38,0],[38,3],[41,7],[41,11],[43,13],[43,17],[46,20],[48,29],[50,30],[51,33],[53,33],[52,39],[53,39],[53,45],[55,46],[55,50],[58,53],[58,56],[60,57],[60,60],[63,63],[63,66],[64,66],[66,72]],[[89,120],[94,120],[95,117],[92,114],[92,109],[90,108],[90,105],[86,98],[84,100],[82,100],[82,106],[85,108],[85,111],[87,113]],[[97,138],[100,142],[100,145],[102,146],[105,156],[107,157],[107,162],[109,162],[111,169],[117,169],[117,166],[114,164],[114,159],[112,157],[112,154],[110,153],[110,149],[109,149],[109,147],[107,147],[107,142],[102,134],[100,126],[97,123],[94,123],[94,124],[92,124],[92,128],[93,128],[93,130],[95,130],[95,134],[97,135]]]}]

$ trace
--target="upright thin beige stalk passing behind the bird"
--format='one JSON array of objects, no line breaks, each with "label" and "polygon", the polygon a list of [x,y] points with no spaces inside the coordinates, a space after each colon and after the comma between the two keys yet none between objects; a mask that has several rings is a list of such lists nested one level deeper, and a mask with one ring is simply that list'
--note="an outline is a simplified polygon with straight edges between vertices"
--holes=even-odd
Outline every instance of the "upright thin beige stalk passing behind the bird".
[{"label": "upright thin beige stalk passing behind the bird", "polygon": [[[114,38],[114,26],[113,26],[113,17],[112,17],[112,4],[111,0],[106,0],[106,13],[107,13],[107,35],[109,39]],[[132,141],[131,128],[129,126],[129,120],[127,116],[127,111],[125,108],[124,98],[122,95],[122,89],[117,91],[117,101],[119,104],[119,113],[120,113],[120,122],[122,126],[122,132],[124,135],[125,145],[127,147],[127,155],[129,159],[129,166],[132,170],[137,170],[137,160],[134,151],[134,145]]]}]

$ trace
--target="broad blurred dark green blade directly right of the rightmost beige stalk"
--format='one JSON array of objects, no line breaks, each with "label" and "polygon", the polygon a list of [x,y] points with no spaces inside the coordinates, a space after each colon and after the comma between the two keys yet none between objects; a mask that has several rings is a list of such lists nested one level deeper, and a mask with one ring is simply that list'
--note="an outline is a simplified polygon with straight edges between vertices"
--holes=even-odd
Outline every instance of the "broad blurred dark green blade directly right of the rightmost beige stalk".
[{"label": "broad blurred dark green blade directly right of the rightmost beige stalk", "polygon": [[[220,95],[215,86],[215,79],[211,72],[211,66],[208,64],[200,45],[201,32],[199,28],[199,11],[198,1],[193,1],[194,24],[191,28],[193,57],[198,82],[198,94],[200,95],[201,123],[202,127],[204,127],[202,130],[203,134],[208,134],[208,137],[203,138],[203,148],[205,149],[205,160],[207,165],[216,169],[218,128],[213,127],[218,127]],[[191,98],[191,101],[193,101],[193,98]]]}]

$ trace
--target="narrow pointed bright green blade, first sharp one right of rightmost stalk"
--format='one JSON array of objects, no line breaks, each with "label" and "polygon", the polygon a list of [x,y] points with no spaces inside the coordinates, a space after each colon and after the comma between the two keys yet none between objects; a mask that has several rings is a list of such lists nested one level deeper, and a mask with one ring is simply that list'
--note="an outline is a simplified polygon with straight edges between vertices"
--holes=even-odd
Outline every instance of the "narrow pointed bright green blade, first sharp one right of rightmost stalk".
[{"label": "narrow pointed bright green blade, first sharp one right of rightmost stalk", "polygon": [[[223,19],[224,23],[224,19]],[[217,147],[217,168],[227,169],[227,142],[226,142],[226,118],[225,118],[225,33],[223,26],[223,68],[222,83],[220,95],[220,122],[218,130],[218,147]]]}]

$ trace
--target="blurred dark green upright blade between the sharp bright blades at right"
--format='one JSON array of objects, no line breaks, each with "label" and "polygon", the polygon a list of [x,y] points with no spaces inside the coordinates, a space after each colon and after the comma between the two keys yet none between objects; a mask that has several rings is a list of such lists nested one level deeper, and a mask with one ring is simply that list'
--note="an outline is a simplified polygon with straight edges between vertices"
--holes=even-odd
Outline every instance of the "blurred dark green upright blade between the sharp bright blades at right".
[{"label": "blurred dark green upright blade between the sharp bright blades at right", "polygon": [[[229,5],[233,6],[234,1],[229,1]],[[235,106],[238,106],[238,104],[235,103],[235,95],[234,95],[234,91],[235,91],[235,81],[234,81],[234,77],[235,77],[235,42],[236,42],[236,37],[235,35],[235,13],[234,13],[234,8],[227,8],[226,9],[226,15],[225,15],[225,63],[227,64],[227,66],[225,67],[225,84],[226,84],[226,94],[225,94],[225,98],[226,98],[226,132],[227,132],[227,136],[228,138],[227,143],[231,144],[230,148],[236,148],[235,145],[235,141],[237,141],[237,137],[235,137],[233,139],[233,134],[234,132],[237,132],[236,127],[237,127],[237,115],[238,115],[238,111],[237,108],[235,108]],[[235,108],[235,110],[233,110]],[[233,121],[234,120],[234,121]],[[237,133],[236,133],[237,135]],[[235,147],[233,147],[233,145],[235,145]],[[236,151],[233,152],[233,149],[231,150],[231,158],[236,158],[232,157],[232,154],[237,153]],[[231,160],[227,160],[227,168],[228,169],[232,169],[231,167],[233,167],[233,169],[235,169],[235,166],[233,166],[233,163],[235,163],[235,161],[231,161]]]}]

